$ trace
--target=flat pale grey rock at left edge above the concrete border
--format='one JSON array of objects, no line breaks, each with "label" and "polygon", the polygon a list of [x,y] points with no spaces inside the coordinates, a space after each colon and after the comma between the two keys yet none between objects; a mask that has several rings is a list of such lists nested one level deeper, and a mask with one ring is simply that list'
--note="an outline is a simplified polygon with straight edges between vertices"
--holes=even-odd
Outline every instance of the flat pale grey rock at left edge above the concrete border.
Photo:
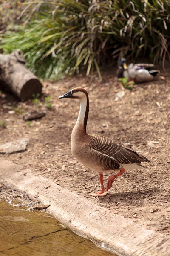
[{"label": "flat pale grey rock at left edge above the concrete border", "polygon": [[5,144],[0,145],[0,154],[11,154],[18,151],[26,150],[26,146],[29,143],[28,138],[22,138],[14,140]]}]

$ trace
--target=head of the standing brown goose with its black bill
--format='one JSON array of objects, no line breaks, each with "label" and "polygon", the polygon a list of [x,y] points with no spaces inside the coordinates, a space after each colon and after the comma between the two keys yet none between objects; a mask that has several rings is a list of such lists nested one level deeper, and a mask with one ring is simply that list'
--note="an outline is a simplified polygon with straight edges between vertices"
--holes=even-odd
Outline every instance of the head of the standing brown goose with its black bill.
[{"label": "head of the standing brown goose with its black bill", "polygon": [[59,96],[59,99],[63,98],[71,98],[71,99],[83,99],[88,96],[88,93],[85,89],[81,87],[74,88],[70,90],[69,92]]}]

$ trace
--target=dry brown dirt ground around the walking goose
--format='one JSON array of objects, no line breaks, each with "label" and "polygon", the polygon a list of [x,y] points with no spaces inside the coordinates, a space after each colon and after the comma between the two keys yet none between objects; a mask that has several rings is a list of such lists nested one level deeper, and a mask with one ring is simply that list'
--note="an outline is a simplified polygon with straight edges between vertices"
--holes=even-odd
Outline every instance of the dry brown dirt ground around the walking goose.
[{"label": "dry brown dirt ground around the walking goose", "polygon": [[[55,83],[44,82],[40,106],[31,100],[19,102],[10,94],[0,96],[0,144],[22,137],[30,143],[25,152],[0,155],[33,169],[79,195],[132,218],[147,228],[170,235],[170,76],[124,89],[113,73],[97,76],[75,76]],[[79,113],[79,102],[59,100],[59,95],[74,87],[84,87],[90,97],[88,133],[103,134],[133,148],[150,159],[145,170],[126,171],[113,183],[106,197],[91,197],[98,192],[98,175],[82,166],[71,154],[71,131]],[[116,93],[124,91],[115,101]],[[44,109],[45,96],[51,96],[51,109],[45,117],[31,122],[23,115]],[[14,113],[10,111],[14,110]],[[104,175],[104,181],[111,174]],[[64,198],[63,198],[64,200]]]}]

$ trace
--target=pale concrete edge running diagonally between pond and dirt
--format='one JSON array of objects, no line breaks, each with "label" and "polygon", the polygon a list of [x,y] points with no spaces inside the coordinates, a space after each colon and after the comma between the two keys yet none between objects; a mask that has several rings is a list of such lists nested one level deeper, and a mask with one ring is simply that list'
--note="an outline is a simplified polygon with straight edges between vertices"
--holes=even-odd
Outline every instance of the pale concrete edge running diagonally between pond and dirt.
[{"label": "pale concrete edge running diagonally between pond and dirt", "polygon": [[38,194],[43,204],[51,204],[47,212],[62,224],[119,256],[170,255],[170,238],[166,235],[134,224],[31,170],[23,171],[11,161],[0,160],[0,180],[32,197]]}]

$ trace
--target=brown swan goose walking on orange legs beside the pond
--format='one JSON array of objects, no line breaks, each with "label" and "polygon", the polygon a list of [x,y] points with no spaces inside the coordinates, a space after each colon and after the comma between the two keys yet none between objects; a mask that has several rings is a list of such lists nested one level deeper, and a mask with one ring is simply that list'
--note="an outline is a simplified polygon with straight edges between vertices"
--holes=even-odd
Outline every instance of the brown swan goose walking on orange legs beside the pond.
[{"label": "brown swan goose walking on orange legs beside the pond", "polygon": [[[98,172],[101,190],[93,196],[105,196],[111,189],[112,183],[119,175],[128,169],[145,169],[141,162],[150,161],[133,150],[130,143],[119,143],[114,139],[87,134],[86,126],[89,112],[88,93],[83,88],[74,88],[59,99],[71,98],[80,100],[80,110],[76,125],[71,133],[71,151],[77,160],[88,168]],[[119,171],[108,178],[103,185],[103,172]]]}]

